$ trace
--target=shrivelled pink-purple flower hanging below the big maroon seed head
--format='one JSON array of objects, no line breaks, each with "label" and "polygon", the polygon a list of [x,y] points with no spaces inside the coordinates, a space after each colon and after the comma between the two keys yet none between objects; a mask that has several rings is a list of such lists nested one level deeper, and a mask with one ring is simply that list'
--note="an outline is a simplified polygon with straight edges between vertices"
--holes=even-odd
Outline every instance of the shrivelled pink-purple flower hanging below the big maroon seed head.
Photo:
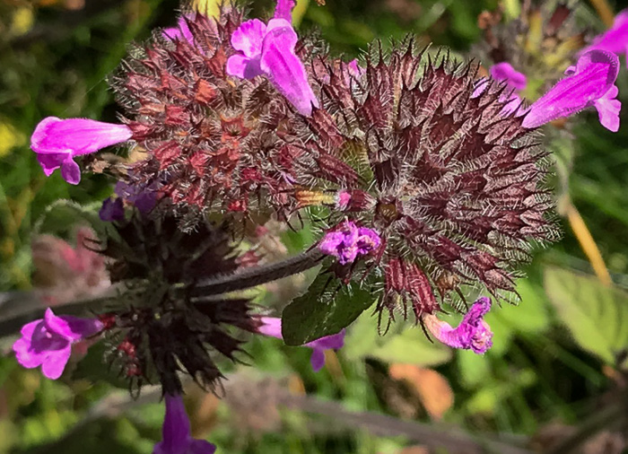
[{"label": "shrivelled pink-purple flower hanging below the big maroon seed head", "polygon": [[493,332],[484,315],[491,310],[491,300],[485,296],[479,298],[468,310],[458,327],[437,319],[435,315],[423,316],[423,323],[432,336],[440,342],[454,348],[473,350],[475,354],[484,354],[493,346]]}]

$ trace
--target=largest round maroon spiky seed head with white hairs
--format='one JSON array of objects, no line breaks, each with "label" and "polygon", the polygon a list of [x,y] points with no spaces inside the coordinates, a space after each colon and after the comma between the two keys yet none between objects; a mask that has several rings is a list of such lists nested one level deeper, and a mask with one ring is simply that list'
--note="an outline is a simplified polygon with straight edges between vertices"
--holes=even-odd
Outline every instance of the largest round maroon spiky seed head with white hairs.
[{"label": "largest round maroon spiky seed head with white hairs", "polygon": [[451,301],[464,284],[513,292],[529,249],[558,234],[545,153],[502,115],[503,88],[477,95],[472,66],[434,64],[412,42],[389,57],[372,48],[363,74],[315,67],[322,109],[303,120],[310,155],[296,162],[306,205],[335,191],[332,225],[379,231],[379,309],[410,301],[420,318],[439,308],[432,289]]}]

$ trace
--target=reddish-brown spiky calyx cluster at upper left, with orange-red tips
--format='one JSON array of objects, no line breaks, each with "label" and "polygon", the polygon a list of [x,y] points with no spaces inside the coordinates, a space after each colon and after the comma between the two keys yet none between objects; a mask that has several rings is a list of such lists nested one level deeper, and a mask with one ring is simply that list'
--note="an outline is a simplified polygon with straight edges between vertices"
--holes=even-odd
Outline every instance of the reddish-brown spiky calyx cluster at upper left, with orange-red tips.
[{"label": "reddish-brown spiky calyx cluster at upper left, with orange-red tips", "polygon": [[292,188],[294,156],[302,151],[283,135],[297,114],[265,77],[225,73],[242,15],[235,7],[216,20],[189,15],[190,38],[155,35],[114,79],[135,149],[145,153],[129,182],[156,183],[160,196],[188,220],[184,228],[210,212],[271,207],[285,215],[293,209],[285,191]]}]

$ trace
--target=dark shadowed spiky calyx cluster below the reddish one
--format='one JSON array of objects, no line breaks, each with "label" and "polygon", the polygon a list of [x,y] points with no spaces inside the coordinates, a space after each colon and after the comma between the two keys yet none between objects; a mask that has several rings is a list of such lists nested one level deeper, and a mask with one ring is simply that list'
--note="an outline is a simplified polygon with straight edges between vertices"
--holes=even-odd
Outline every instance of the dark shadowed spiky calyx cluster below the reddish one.
[{"label": "dark shadowed spiky calyx cluster below the reddish one", "polygon": [[175,218],[137,214],[112,225],[116,232],[102,253],[112,282],[124,287],[100,321],[113,358],[136,391],[144,381],[159,381],[164,392],[181,392],[179,372],[214,389],[222,377],[214,351],[235,361],[238,333],[255,333],[259,325],[247,298],[192,295],[200,280],[238,270],[242,255],[230,235],[206,222],[184,233]]}]

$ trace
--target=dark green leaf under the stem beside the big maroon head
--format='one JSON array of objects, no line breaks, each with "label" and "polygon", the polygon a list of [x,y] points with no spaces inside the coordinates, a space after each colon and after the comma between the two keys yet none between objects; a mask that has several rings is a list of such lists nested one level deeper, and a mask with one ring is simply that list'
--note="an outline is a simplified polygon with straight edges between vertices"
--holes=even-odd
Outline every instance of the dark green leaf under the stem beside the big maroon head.
[{"label": "dark green leaf under the stem beside the big maroon head", "polygon": [[343,284],[334,275],[321,273],[307,292],[283,310],[283,341],[286,345],[303,345],[336,334],[374,301],[367,285]]}]

